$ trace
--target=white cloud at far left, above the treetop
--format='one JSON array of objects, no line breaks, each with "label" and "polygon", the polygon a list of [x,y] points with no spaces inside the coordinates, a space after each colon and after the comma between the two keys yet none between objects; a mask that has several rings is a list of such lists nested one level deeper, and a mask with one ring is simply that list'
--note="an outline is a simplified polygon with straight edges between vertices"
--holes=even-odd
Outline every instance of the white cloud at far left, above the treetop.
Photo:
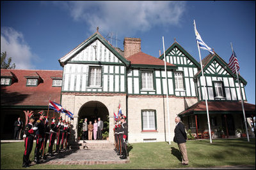
[{"label": "white cloud at far left, above the treetop", "polygon": [[15,69],[34,69],[31,60],[35,55],[31,53],[29,45],[21,32],[12,27],[1,27],[1,52],[6,52],[7,59],[12,57]]}]

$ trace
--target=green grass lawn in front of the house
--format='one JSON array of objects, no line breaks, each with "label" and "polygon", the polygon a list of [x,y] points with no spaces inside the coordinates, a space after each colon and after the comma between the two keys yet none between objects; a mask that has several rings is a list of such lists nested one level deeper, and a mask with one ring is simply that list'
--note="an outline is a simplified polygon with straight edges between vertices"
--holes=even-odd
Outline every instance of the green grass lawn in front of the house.
[{"label": "green grass lawn in front of the house", "polygon": [[[255,139],[215,139],[187,141],[189,166],[255,166]],[[176,143],[134,143],[129,145],[130,162],[108,165],[45,165],[38,164],[28,169],[170,169],[179,165],[181,155]],[[35,143],[30,154],[33,160]],[[21,169],[24,143],[1,143],[1,169]]]}]

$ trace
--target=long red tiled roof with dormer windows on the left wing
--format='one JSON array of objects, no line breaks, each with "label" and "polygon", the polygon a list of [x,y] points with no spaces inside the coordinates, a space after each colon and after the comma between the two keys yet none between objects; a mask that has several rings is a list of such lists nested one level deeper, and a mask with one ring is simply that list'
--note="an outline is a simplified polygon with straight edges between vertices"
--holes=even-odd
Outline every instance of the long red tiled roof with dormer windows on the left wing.
[{"label": "long red tiled roof with dormer windows on the left wing", "polygon": [[[52,77],[60,76],[60,70],[26,70],[26,69],[1,69],[1,74],[12,71],[17,77],[17,82],[10,86],[1,86],[1,106],[47,106],[49,97],[60,103],[61,87],[52,87]],[[44,83],[36,87],[26,86],[25,76],[40,75]]]}]

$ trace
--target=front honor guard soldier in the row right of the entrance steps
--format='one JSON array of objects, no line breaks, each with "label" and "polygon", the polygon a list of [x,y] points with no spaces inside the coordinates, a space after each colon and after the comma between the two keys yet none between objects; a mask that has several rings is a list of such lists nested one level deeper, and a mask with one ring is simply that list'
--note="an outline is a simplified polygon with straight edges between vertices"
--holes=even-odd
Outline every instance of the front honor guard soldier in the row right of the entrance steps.
[{"label": "front honor guard soldier in the row right of the entrance steps", "polygon": [[121,145],[122,145],[122,156],[120,159],[127,159],[127,146],[126,146],[126,141],[127,141],[127,136],[128,136],[128,125],[125,122],[125,116],[121,117],[121,126],[120,126],[120,134],[121,134]]}]

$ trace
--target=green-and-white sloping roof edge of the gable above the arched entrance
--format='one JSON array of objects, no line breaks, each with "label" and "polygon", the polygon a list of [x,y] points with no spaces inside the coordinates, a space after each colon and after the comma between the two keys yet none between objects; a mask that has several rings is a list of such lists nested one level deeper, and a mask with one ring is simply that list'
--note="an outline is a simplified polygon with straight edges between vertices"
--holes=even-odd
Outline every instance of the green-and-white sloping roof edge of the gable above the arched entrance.
[{"label": "green-and-white sloping roof edge of the gable above the arched entrance", "polygon": [[60,65],[64,66],[68,60],[72,59],[72,57],[74,57],[74,55],[76,55],[77,53],[79,53],[81,50],[83,50],[83,48],[85,46],[90,45],[90,43],[92,43],[93,41],[95,41],[96,39],[99,39],[99,41],[101,43],[103,43],[111,52],[113,52],[116,57],[118,57],[118,59],[120,59],[125,66],[129,66],[129,61],[126,60],[117,50],[114,46],[112,46],[98,31],[95,32],[92,36],[90,36],[90,38],[86,39],[85,41],[83,41],[83,43],[79,44],[78,46],[76,46],[76,48],[74,48],[73,50],[71,50],[70,52],[68,52],[65,56],[61,57],[61,59],[59,59]]}]

